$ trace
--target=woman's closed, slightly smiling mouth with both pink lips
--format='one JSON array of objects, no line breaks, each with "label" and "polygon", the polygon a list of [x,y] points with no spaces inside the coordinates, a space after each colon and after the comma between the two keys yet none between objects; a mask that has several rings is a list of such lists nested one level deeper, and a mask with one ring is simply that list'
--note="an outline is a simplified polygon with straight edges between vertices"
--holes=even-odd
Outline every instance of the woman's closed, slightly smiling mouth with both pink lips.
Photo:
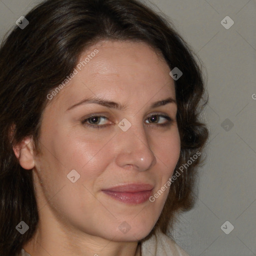
[{"label": "woman's closed, slightly smiling mouth with both pink lips", "polygon": [[150,184],[127,184],[102,189],[111,198],[128,203],[139,204],[148,200],[153,186]]}]

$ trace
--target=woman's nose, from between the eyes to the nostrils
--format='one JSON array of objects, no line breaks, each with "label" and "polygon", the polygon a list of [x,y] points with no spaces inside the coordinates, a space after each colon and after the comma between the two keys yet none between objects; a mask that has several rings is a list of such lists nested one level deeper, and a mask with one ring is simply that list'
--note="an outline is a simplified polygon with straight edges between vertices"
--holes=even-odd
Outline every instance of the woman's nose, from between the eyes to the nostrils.
[{"label": "woman's nose, from between the eyes to the nostrils", "polygon": [[118,145],[115,161],[118,166],[144,171],[155,165],[156,158],[143,125],[131,125],[126,131],[120,129],[115,139]]}]

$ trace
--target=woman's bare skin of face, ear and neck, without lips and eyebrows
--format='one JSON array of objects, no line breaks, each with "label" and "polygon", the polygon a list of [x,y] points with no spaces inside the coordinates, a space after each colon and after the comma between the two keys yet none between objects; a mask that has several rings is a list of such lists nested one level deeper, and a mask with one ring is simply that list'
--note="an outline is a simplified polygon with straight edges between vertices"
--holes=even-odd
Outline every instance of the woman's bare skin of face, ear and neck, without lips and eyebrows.
[{"label": "woman's bare skin of face, ear and neck, without lips and eyebrows", "polygon": [[[150,108],[158,100],[175,99],[174,82],[162,56],[142,42],[100,41],[84,51],[98,53],[55,95],[43,111],[40,147],[32,150],[32,138],[13,149],[19,163],[33,172],[39,223],[35,235],[23,246],[31,255],[139,255],[138,241],[157,221],[169,188],[154,202],[127,204],[101,189],[126,183],[149,183],[152,194],[171,177],[180,152],[175,120],[177,106],[170,102]],[[80,61],[79,60],[79,61]],[[125,105],[114,109],[84,103],[100,97]],[[172,120],[167,126],[164,117]],[[93,128],[91,114],[98,118]],[[118,123],[126,118],[127,131]],[[95,125],[95,124],[94,124]],[[80,178],[72,183],[67,174],[75,169]],[[42,183],[40,183],[40,181]],[[130,226],[122,233],[118,226]]]}]

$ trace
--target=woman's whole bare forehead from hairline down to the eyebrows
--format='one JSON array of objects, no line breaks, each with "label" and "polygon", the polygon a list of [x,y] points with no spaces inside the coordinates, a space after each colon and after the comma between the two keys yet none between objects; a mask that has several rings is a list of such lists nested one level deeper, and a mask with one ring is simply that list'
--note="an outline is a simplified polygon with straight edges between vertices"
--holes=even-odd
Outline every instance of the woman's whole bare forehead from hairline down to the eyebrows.
[{"label": "woman's whole bare forehead from hairline down to the eyebrows", "polygon": [[144,42],[100,41],[82,52],[75,70],[54,100],[70,105],[86,95],[134,102],[157,95],[175,98],[169,66]]}]

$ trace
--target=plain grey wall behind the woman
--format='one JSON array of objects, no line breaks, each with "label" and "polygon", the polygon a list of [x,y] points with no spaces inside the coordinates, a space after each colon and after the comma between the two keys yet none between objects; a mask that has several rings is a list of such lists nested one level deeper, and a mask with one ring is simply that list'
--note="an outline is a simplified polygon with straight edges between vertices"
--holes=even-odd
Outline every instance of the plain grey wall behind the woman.
[{"label": "plain grey wall behind the woman", "polygon": [[[0,0],[0,38],[37,2]],[[172,20],[208,77],[207,159],[196,205],[180,216],[175,240],[191,256],[256,255],[256,1],[144,2]],[[234,21],[229,29],[220,23],[225,16]],[[225,221],[234,226],[229,234],[220,228]]]}]

